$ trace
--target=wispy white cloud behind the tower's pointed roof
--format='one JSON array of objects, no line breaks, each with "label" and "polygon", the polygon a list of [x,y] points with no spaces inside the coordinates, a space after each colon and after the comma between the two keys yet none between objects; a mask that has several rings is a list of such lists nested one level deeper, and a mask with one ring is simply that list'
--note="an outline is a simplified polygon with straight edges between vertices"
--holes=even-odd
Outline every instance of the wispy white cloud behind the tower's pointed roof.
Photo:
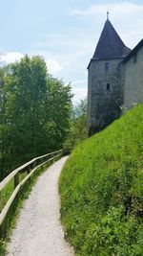
[{"label": "wispy white cloud behind the tower's pointed roof", "polygon": [[110,20],[117,33],[129,47],[133,48],[143,37],[143,4],[128,1],[94,4],[85,10],[71,10],[71,14],[84,21],[87,20],[88,24],[92,23],[92,30],[89,29],[87,37],[95,32],[94,36],[97,42],[106,20],[107,11],[110,12]]}]

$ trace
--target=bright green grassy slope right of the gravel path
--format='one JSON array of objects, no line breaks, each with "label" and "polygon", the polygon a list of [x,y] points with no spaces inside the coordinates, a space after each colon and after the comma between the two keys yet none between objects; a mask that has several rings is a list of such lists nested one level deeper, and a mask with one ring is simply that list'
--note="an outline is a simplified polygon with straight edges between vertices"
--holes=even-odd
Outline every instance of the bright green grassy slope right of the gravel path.
[{"label": "bright green grassy slope right of the gravel path", "polygon": [[143,105],[78,145],[59,181],[76,255],[141,256]]}]

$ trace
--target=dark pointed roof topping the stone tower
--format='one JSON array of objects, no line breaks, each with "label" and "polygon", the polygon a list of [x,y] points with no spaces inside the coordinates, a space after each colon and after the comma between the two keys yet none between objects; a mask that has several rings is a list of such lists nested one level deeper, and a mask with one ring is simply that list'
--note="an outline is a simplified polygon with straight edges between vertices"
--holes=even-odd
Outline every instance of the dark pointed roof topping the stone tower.
[{"label": "dark pointed roof topping the stone tower", "polygon": [[131,49],[123,43],[120,36],[112,27],[112,23],[107,19],[97,43],[93,58],[125,58],[130,52]]}]

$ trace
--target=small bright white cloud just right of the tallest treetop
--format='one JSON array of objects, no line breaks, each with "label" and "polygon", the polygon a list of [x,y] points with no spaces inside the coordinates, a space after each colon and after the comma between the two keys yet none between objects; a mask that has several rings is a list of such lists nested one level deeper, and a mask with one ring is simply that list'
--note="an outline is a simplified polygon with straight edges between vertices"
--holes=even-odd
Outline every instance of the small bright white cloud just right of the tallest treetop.
[{"label": "small bright white cloud just right of the tallest treetop", "polygon": [[55,59],[53,58],[46,58],[48,70],[51,74],[55,74],[64,69],[64,67]]}]

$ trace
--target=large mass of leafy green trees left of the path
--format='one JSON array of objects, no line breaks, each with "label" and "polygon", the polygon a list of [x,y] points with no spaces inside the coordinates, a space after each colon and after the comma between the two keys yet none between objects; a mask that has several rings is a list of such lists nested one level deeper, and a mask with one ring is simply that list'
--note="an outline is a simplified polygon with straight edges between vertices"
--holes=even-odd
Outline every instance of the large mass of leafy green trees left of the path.
[{"label": "large mass of leafy green trees left of the path", "polygon": [[62,147],[71,86],[53,79],[43,58],[25,56],[0,70],[0,179],[32,157]]}]

